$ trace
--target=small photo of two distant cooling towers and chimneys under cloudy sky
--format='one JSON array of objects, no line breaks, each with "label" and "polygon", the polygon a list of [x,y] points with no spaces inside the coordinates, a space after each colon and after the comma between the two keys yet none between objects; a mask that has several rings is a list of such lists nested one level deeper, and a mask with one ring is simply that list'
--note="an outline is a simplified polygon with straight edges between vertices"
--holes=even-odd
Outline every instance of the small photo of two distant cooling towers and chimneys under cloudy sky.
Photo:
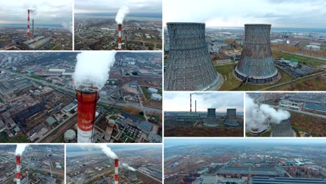
[{"label": "small photo of two distant cooling towers and chimneys under cloudy sky", "polygon": [[164,136],[243,137],[243,102],[243,93],[164,93]]}]

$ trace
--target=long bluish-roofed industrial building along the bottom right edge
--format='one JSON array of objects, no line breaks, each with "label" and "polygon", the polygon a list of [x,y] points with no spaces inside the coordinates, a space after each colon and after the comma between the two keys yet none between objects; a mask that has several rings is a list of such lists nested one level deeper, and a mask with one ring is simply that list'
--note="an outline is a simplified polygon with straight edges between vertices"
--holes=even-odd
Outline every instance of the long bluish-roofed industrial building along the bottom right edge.
[{"label": "long bluish-roofed industrial building along the bottom right edge", "polygon": [[254,176],[249,181],[250,184],[326,184],[324,179],[320,178],[284,178],[284,177],[257,177]]}]

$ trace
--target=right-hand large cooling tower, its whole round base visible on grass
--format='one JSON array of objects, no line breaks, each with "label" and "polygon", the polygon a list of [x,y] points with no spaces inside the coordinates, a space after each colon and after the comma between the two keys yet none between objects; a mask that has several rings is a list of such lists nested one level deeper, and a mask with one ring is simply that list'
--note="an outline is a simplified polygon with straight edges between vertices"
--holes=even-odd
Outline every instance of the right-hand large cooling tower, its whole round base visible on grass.
[{"label": "right-hand large cooling tower, its whole round base visible on grass", "polygon": [[244,24],[244,46],[235,75],[252,84],[264,84],[278,79],[270,49],[270,24]]}]

